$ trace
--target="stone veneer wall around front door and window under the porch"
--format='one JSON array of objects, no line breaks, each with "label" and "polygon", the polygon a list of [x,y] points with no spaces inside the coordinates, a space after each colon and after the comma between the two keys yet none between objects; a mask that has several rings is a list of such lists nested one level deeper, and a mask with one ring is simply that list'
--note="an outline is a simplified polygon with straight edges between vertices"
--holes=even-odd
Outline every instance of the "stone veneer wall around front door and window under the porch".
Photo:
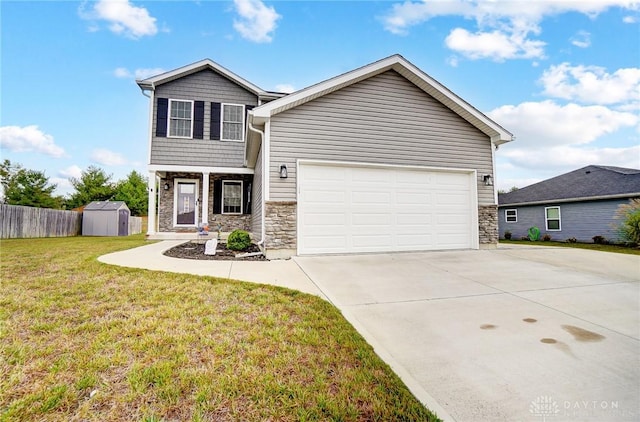
[{"label": "stone veneer wall around front door and window under the porch", "polygon": [[[190,227],[174,227],[173,226],[173,198],[174,198],[174,179],[197,179],[199,181],[200,191],[198,196],[202,197],[202,174],[201,173],[169,173],[166,179],[160,180],[160,204],[158,207],[158,227],[161,232],[176,231],[195,231]],[[222,232],[231,232],[235,229],[251,231],[251,214],[244,215],[228,215],[213,213],[213,198],[217,192],[213,192],[213,182],[217,179],[224,180],[243,180],[240,175],[210,175],[209,177],[209,209],[207,210],[209,231],[216,232],[218,224],[221,225]],[[171,188],[164,190],[164,184],[168,182]],[[198,216],[202,215],[202,208],[198,210]],[[200,217],[199,217],[200,219]],[[197,223],[200,223],[198,221]]]}]

